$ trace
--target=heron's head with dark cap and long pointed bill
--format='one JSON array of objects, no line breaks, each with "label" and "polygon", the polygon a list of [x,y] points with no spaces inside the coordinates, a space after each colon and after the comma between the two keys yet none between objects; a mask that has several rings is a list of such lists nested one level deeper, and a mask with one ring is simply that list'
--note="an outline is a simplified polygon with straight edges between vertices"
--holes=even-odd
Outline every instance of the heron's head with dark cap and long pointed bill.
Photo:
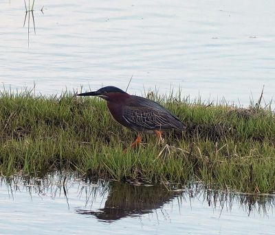
[{"label": "heron's head with dark cap and long pointed bill", "polygon": [[106,99],[107,101],[111,101],[112,99],[118,97],[127,97],[129,94],[115,86],[105,86],[96,91],[78,94],[78,96],[100,97],[102,99]]}]

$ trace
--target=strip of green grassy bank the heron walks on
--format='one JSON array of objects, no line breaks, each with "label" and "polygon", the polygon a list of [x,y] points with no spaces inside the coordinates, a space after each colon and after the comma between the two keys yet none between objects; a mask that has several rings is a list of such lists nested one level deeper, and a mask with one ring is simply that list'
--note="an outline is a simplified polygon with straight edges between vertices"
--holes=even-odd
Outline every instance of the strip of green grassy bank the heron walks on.
[{"label": "strip of green grassy bank the heron walks on", "polygon": [[270,110],[188,103],[156,97],[187,126],[186,132],[143,136],[123,153],[135,133],[115,123],[104,101],[0,95],[0,171],[73,169],[86,175],[146,182],[202,181],[244,192],[275,190],[275,117]]}]

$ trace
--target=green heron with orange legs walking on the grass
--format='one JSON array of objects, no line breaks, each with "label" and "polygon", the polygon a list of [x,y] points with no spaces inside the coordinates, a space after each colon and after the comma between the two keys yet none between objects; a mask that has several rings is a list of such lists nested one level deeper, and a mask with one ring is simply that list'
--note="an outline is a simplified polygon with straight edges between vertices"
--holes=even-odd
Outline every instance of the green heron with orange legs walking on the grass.
[{"label": "green heron with orange legs walking on the grass", "polygon": [[92,92],[78,94],[78,96],[97,96],[107,100],[107,106],[113,118],[124,127],[137,132],[137,139],[132,143],[136,147],[141,143],[141,134],[156,134],[162,140],[162,131],[179,129],[185,126],[181,121],[158,103],[129,95],[115,86],[106,86]]}]

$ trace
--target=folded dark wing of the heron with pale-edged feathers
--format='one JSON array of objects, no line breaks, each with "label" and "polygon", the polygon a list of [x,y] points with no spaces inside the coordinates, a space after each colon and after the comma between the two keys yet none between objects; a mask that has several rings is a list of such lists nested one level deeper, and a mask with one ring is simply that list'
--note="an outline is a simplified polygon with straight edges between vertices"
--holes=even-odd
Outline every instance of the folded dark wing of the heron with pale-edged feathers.
[{"label": "folded dark wing of the heron with pale-edged feathers", "polygon": [[122,116],[126,122],[138,129],[182,129],[179,126],[179,121],[171,116],[170,113],[153,108],[126,106]]}]

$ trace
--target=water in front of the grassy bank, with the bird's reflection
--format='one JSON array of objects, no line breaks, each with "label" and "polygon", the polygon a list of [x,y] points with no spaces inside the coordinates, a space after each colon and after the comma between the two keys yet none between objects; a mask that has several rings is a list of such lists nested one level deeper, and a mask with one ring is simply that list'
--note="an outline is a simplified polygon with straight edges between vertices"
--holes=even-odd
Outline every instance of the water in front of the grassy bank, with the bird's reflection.
[{"label": "water in front of the grassy bank, with the bird's reflection", "polygon": [[274,195],[168,191],[76,175],[63,182],[58,173],[1,177],[1,234],[274,234]]}]

